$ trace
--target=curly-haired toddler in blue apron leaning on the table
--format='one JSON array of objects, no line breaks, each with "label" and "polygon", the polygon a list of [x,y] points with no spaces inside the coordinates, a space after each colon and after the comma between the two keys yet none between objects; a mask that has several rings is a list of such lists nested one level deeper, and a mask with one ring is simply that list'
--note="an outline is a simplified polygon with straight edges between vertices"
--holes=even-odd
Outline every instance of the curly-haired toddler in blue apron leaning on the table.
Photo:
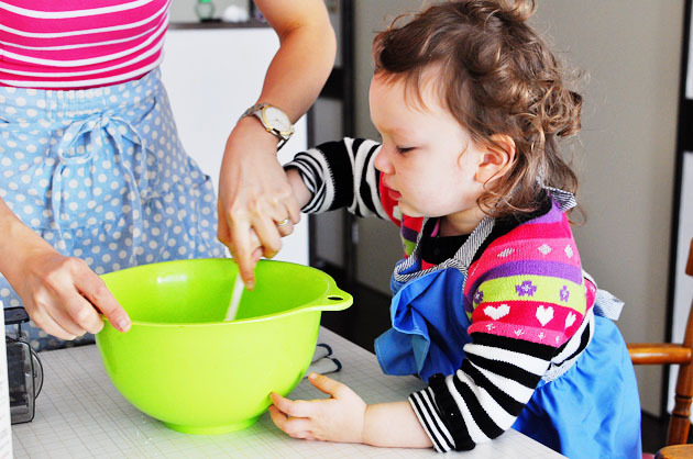
[{"label": "curly-haired toddler in blue apron leaning on the table", "polygon": [[400,227],[388,374],[428,387],[366,405],[323,376],[328,400],[272,394],[298,438],[465,450],[513,427],[574,458],[641,456],[635,373],[615,303],[585,279],[568,213],[576,177],[558,141],[581,97],[527,23],[532,1],[435,4],[375,38],[371,117],[380,142],[297,155],[305,212],[348,206]]}]

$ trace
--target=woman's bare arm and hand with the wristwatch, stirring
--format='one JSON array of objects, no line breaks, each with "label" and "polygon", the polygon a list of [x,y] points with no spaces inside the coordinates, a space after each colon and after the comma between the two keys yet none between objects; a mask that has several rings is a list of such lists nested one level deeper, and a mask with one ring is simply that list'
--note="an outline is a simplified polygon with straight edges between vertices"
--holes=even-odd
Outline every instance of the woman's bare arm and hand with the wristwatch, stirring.
[{"label": "woman's bare arm and hand with the wristwatch, stirring", "polygon": [[[296,122],[318,97],[334,64],[336,38],[322,0],[256,0],[279,36],[257,102],[285,111]],[[299,206],[276,159],[277,138],[257,119],[239,121],[229,136],[219,178],[219,239],[239,262],[248,288],[254,286],[253,253],[273,257],[280,237],[298,223]],[[255,233],[260,246],[253,243]]]}]

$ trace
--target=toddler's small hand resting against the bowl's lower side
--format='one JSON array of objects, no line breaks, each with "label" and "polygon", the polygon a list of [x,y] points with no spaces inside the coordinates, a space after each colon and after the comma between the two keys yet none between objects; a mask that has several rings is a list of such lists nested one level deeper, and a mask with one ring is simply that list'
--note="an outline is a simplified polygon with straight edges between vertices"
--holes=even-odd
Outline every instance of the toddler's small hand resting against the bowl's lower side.
[{"label": "toddler's small hand resting against the bowl's lower side", "polygon": [[272,393],[272,421],[294,438],[339,443],[363,443],[367,405],[341,382],[317,373],[309,381],[329,399],[288,400]]}]

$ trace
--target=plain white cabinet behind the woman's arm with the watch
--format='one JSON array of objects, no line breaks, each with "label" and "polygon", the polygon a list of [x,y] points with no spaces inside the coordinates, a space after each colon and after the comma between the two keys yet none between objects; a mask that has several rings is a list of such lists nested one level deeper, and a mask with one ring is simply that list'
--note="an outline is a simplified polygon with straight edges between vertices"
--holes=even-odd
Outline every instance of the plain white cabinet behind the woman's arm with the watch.
[{"label": "plain white cabinet behind the woman's arm with the watch", "polygon": [[[180,141],[219,189],[227,137],[241,113],[255,103],[265,71],[279,46],[274,31],[260,23],[175,24],[166,36],[162,78]],[[306,117],[279,153],[286,163],[307,147]],[[308,219],[283,239],[275,259],[308,264]]]}]

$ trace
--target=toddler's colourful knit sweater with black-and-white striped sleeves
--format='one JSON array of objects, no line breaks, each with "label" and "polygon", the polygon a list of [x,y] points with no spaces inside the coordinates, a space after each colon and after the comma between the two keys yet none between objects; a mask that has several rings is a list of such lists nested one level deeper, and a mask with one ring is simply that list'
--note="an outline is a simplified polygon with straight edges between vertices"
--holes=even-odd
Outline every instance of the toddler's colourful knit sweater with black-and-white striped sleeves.
[{"label": "toddler's colourful knit sweater with black-and-white striped sleeves", "polygon": [[[385,192],[373,166],[378,148],[345,138],[300,153],[286,167],[298,169],[312,194],[305,212],[346,206],[356,215],[391,219],[402,228],[409,262],[424,226],[421,219],[402,215]],[[460,344],[465,358],[453,374],[435,374],[409,398],[436,449],[472,449],[510,428],[539,382],[559,378],[587,347],[595,294],[554,202],[506,234],[492,232],[474,254],[464,287],[471,318],[471,342]]]}]

